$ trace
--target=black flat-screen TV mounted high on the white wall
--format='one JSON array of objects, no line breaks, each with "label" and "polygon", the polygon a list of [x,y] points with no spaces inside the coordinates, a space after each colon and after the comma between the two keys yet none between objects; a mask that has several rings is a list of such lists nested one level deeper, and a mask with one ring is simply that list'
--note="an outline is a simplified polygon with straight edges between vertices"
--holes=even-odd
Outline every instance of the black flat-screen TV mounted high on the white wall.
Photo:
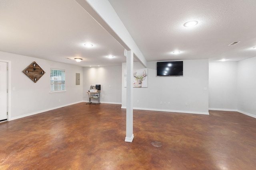
[{"label": "black flat-screen TV mounted high on the white wall", "polygon": [[183,76],[183,61],[157,62],[158,76]]}]

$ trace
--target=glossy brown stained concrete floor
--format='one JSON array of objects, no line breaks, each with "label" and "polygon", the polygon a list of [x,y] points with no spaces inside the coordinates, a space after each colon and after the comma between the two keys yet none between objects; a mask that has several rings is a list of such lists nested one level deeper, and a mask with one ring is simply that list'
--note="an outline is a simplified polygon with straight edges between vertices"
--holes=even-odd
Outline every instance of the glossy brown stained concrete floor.
[{"label": "glossy brown stained concrete floor", "polygon": [[79,103],[0,123],[1,170],[255,170],[256,119]]}]

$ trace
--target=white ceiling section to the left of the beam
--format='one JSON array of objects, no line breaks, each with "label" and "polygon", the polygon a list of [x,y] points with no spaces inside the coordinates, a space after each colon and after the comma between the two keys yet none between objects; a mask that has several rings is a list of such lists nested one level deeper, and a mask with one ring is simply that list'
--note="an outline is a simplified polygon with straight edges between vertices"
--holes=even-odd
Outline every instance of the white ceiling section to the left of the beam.
[{"label": "white ceiling section to the left of the beam", "polygon": [[0,0],[0,51],[80,66],[126,62],[124,47],[75,0]]}]

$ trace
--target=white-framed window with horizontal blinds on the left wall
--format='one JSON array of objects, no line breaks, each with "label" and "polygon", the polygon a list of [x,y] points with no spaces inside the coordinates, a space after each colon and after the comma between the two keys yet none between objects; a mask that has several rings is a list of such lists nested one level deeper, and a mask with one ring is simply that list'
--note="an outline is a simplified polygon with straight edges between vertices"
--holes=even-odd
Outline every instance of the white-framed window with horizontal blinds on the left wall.
[{"label": "white-framed window with horizontal blinds on the left wall", "polygon": [[65,91],[65,70],[51,68],[50,92]]}]

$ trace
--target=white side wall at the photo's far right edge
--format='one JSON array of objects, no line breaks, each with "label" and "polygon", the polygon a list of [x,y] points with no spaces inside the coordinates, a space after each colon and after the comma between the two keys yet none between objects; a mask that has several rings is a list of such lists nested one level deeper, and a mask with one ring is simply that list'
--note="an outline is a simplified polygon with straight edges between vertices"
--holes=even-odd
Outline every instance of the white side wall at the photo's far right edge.
[{"label": "white side wall at the photo's far right edge", "polygon": [[256,57],[238,62],[238,111],[256,118]]}]

